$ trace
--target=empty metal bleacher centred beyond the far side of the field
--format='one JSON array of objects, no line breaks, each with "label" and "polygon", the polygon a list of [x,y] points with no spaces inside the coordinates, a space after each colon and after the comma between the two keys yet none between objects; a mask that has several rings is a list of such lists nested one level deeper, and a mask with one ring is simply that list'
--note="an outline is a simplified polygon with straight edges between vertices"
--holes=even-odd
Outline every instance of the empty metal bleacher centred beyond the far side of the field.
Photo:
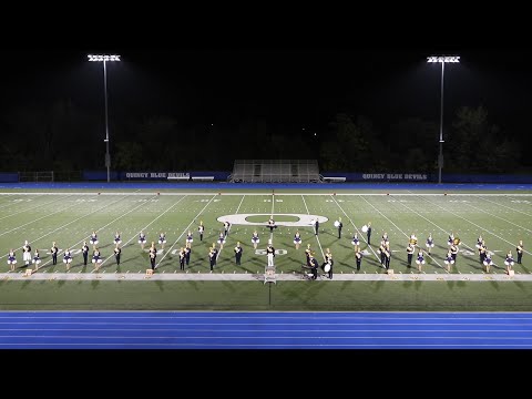
[{"label": "empty metal bleacher centred beyond the far side of the field", "polygon": [[236,160],[229,183],[321,183],[316,160]]}]

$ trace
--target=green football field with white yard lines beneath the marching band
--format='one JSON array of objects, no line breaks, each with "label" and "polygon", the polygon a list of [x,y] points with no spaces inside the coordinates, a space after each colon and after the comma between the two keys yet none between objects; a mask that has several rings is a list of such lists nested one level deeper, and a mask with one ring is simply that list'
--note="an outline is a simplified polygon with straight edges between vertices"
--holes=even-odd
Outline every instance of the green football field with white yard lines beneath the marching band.
[{"label": "green football field with white yard lines beneath the marching band", "polygon": [[[270,233],[273,216],[277,228]],[[316,235],[313,222],[318,219]],[[335,222],[341,219],[341,237]],[[197,228],[205,225],[203,241]],[[221,248],[224,222],[231,223]],[[532,194],[528,192],[395,191],[326,192],[286,191],[177,191],[177,190],[27,190],[0,193],[0,308],[4,310],[519,310],[532,308],[532,266],[529,237],[532,229]],[[362,226],[371,223],[371,244]],[[258,233],[254,248],[252,234]],[[99,269],[83,265],[81,247],[96,232],[102,255]],[[147,243],[139,244],[143,232]],[[185,270],[178,253],[192,233],[192,253]],[[294,235],[301,245],[296,249]],[[114,236],[120,233],[122,256],[116,265]],[[164,248],[157,243],[165,233]],[[387,274],[379,245],[387,233],[391,262]],[[444,259],[450,234],[460,239],[454,265]],[[364,254],[357,270],[351,239],[358,234]],[[411,235],[419,249],[434,247],[418,269],[407,264]],[[480,264],[479,236],[492,253],[489,272]],[[28,241],[40,252],[41,264],[24,265],[22,246]],[[265,284],[266,246],[276,250],[274,283]],[[509,250],[523,241],[523,263],[505,273]],[[50,248],[60,249],[52,265]],[[157,248],[156,269],[150,269],[149,247]],[[243,247],[236,265],[234,247]],[[211,272],[208,253],[218,249]],[[310,246],[319,264],[325,253],[334,258],[334,277],[306,278],[305,249]],[[90,254],[92,255],[92,245]],[[10,270],[8,254],[17,255]],[[70,249],[70,269],[63,252]],[[416,256],[415,256],[416,259]],[[32,273],[28,273],[32,269]]]}]

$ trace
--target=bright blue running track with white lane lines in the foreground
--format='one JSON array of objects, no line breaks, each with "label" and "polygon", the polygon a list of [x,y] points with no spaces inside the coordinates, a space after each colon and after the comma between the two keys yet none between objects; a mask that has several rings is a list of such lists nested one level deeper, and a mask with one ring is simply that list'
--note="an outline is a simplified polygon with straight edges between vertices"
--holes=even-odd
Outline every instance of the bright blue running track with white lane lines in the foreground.
[{"label": "bright blue running track with white lane lines in the foreground", "polygon": [[531,348],[532,313],[0,313],[0,349]]}]

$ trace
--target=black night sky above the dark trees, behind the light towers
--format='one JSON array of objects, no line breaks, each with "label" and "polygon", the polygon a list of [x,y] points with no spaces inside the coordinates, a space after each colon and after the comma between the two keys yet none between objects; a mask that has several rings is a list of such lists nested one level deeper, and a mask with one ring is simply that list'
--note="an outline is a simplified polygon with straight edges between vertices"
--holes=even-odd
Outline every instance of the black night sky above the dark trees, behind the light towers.
[{"label": "black night sky above the dark trees, behind the light towers", "polygon": [[[526,52],[501,49],[84,49],[10,51],[2,110],[70,99],[103,109],[101,63],[88,53],[120,53],[108,64],[110,117],[160,114],[205,123],[244,116],[320,124],[338,111],[393,121],[439,120],[440,66],[426,57],[459,54],[444,73],[446,121],[460,105],[484,105],[494,123],[524,127],[531,92]],[[7,53],[2,53],[6,58]]]}]

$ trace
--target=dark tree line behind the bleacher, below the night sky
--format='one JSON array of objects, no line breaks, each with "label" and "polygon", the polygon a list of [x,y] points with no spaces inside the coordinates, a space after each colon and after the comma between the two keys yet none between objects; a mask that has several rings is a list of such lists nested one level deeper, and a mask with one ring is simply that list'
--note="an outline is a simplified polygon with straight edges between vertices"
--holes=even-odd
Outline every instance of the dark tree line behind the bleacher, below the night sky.
[{"label": "dark tree line behind the bleacher, below the night sky", "polygon": [[[462,106],[443,131],[444,173],[516,173],[530,168],[524,139],[490,122],[485,108]],[[234,120],[235,121],[235,120]],[[317,158],[321,171],[436,173],[439,122],[391,123],[338,112],[301,126],[244,116],[211,124],[188,117],[110,120],[112,170],[231,171],[236,158]],[[2,172],[104,170],[101,115],[69,101],[10,110],[0,119]]]}]

